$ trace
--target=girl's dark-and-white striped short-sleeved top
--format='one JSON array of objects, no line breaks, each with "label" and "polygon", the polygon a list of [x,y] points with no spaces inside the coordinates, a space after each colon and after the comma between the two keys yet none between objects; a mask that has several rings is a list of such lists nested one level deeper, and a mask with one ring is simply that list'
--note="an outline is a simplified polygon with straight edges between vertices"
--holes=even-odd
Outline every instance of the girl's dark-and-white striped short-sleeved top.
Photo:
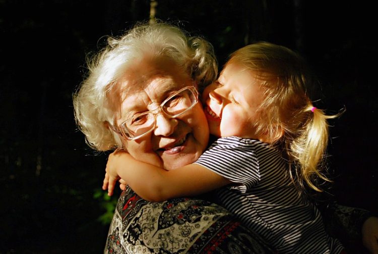
[{"label": "girl's dark-and-white striped short-sleeved top", "polygon": [[281,150],[254,139],[219,138],[199,158],[235,184],[219,189],[222,205],[280,253],[340,253],[319,210],[299,195]]}]

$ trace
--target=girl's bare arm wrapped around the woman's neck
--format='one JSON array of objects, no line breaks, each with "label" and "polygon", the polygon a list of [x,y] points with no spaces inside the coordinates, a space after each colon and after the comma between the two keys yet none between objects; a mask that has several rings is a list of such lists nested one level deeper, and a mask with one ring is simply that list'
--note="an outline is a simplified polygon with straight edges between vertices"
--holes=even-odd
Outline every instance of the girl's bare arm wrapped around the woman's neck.
[{"label": "girl's bare arm wrapped around the woman's neck", "polygon": [[223,176],[197,164],[166,171],[135,160],[118,151],[109,156],[103,189],[111,195],[116,180],[122,178],[142,198],[162,201],[173,197],[193,196],[231,183]]}]

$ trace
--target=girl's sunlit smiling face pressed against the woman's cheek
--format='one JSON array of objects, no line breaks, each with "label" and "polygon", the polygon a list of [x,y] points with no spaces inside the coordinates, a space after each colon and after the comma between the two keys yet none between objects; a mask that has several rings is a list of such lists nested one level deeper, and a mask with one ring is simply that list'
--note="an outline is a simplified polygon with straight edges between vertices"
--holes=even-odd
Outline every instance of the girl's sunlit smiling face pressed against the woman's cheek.
[{"label": "girl's sunlit smiling face pressed against the woman's cheek", "polygon": [[260,139],[254,124],[263,98],[264,92],[254,71],[237,63],[226,65],[218,80],[203,93],[210,133],[217,137]]}]

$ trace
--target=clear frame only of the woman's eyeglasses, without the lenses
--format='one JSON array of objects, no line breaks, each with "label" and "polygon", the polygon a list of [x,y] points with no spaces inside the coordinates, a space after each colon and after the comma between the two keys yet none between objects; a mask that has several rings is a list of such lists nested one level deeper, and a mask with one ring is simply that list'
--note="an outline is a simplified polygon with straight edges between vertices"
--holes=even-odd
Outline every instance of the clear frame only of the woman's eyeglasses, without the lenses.
[{"label": "clear frame only of the woman's eyeglasses, without the lenses", "polygon": [[[180,111],[179,113],[177,114],[171,114],[169,111],[166,111],[164,110],[164,106],[170,101],[172,100],[175,96],[177,96],[178,94],[182,93],[183,91],[185,90],[188,90],[189,92],[191,92],[191,96],[193,96],[193,100],[191,100],[191,105],[188,106],[186,109],[183,109],[183,111]],[[114,130],[115,132],[117,132],[118,134],[120,134],[122,137],[128,139],[128,140],[136,140],[138,138],[141,138],[147,134],[149,134],[151,131],[153,131],[155,128],[156,128],[156,116],[159,115],[159,114],[164,114],[165,116],[167,116],[168,118],[176,118],[184,113],[186,113],[187,111],[191,110],[198,102],[198,91],[196,89],[196,87],[194,86],[186,86],[186,87],[183,87],[181,88],[180,90],[178,90],[177,92],[173,93],[172,95],[170,95],[168,98],[166,98],[158,108],[156,108],[155,110],[152,110],[152,111],[146,111],[142,114],[138,114],[137,116],[135,117],[132,117],[128,120],[125,120],[124,122],[122,122],[120,125],[119,125],[119,128],[116,129],[114,128],[113,126],[110,125],[110,128],[112,130]],[[161,113],[160,113],[161,112]],[[151,122],[151,125],[148,125],[147,126],[147,129],[145,131],[143,131],[142,134],[138,134],[138,135],[134,135],[132,134],[133,131],[130,130],[127,125],[130,121],[133,121],[135,120],[136,118],[140,118],[141,116],[147,116],[149,117],[149,121],[153,121]]]}]

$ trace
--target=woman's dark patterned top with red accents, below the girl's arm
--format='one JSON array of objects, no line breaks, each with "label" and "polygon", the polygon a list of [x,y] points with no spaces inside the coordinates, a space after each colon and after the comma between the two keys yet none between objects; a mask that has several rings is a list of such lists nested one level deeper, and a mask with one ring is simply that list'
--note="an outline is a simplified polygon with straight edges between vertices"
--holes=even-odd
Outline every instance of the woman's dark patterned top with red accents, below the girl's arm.
[{"label": "woman's dark patterned top with red accents, below the girl's arm", "polygon": [[274,253],[224,208],[175,198],[148,202],[123,191],[104,253]]}]

